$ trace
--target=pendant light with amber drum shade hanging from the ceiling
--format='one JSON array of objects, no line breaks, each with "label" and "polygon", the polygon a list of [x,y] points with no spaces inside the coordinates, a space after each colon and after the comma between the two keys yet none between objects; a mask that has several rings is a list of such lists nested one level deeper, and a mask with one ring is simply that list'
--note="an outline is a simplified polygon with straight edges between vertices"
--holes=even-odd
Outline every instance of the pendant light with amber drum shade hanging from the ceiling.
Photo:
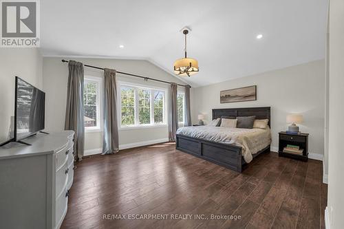
[{"label": "pendant light with amber drum shade hanging from the ceiling", "polygon": [[186,56],[186,35],[189,34],[189,31],[190,30],[188,28],[183,29],[183,34],[185,36],[185,46],[184,46],[185,57],[180,58],[174,63],[174,73],[177,76],[190,77],[191,75],[196,74],[199,70],[198,61],[193,58],[188,58]]}]

